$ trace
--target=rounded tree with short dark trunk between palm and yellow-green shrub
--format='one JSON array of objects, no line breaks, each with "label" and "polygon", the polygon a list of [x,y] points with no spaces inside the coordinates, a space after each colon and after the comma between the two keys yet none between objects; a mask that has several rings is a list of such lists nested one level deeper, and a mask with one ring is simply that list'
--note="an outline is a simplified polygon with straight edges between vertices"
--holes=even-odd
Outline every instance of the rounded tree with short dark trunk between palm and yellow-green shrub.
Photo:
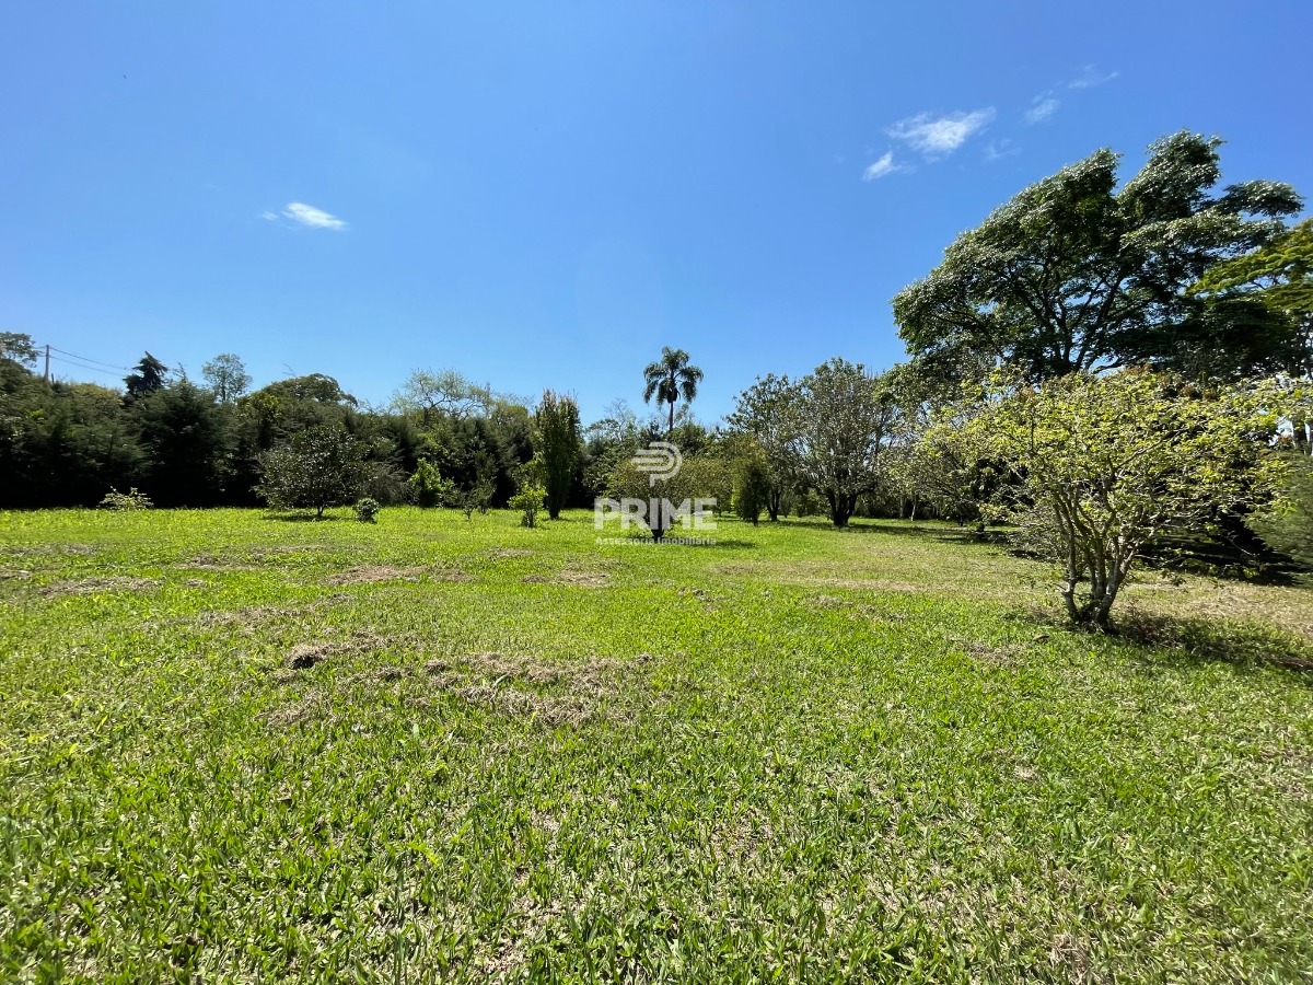
[{"label": "rounded tree with short dark trunk between palm and yellow-green shrub", "polygon": [[893,394],[859,364],[832,359],[798,381],[790,447],[802,478],[847,527],[857,496],[874,490],[897,422]]}]

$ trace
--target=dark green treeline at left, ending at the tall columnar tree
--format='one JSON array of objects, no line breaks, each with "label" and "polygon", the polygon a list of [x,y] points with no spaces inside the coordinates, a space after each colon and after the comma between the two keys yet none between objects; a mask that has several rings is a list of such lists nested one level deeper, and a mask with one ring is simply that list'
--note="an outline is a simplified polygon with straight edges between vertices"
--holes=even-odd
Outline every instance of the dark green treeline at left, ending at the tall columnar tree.
[{"label": "dark green treeline at left, ending at the tall columnar tree", "polygon": [[[364,492],[410,496],[420,460],[491,504],[515,490],[533,454],[529,411],[454,374],[452,406],[362,407],[336,380],[311,374],[247,391],[236,356],[206,364],[201,382],[171,374],[146,355],[122,390],[46,382],[33,372],[32,340],[0,335],[0,504],[95,506],[113,487],[137,487],[156,506],[255,506],[263,456],[311,431],[348,435],[368,464]],[[215,370],[215,372],[211,372]],[[431,394],[440,399],[435,391]]]}]

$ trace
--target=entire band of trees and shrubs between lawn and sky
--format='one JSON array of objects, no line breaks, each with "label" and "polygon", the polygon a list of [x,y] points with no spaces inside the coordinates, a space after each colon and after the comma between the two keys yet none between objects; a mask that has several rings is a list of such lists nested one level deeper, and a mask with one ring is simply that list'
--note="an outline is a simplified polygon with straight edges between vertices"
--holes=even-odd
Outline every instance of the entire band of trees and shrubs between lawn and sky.
[{"label": "entire band of trees and shrubs between lawn and sky", "polygon": [[[825,512],[840,528],[856,515],[932,515],[1037,529],[1025,517],[1046,510],[1048,550],[1066,552],[1074,582],[1096,566],[1094,556],[1073,559],[1077,533],[1098,528],[1109,544],[1138,542],[1113,529],[1132,523],[1130,479],[1159,498],[1173,489],[1170,477],[1111,458],[1100,473],[1100,456],[1134,447],[1141,458],[1176,461],[1171,453],[1191,447],[1215,454],[1216,469],[1236,482],[1215,487],[1205,519],[1178,503],[1174,516],[1153,523],[1137,507],[1134,523],[1153,536],[1194,524],[1188,533],[1243,540],[1253,536],[1246,519],[1279,498],[1264,456],[1313,453],[1313,219],[1293,222],[1302,200],[1289,185],[1220,186],[1220,144],[1173,134],[1124,183],[1117,155],[1100,150],[1023,189],[893,298],[906,362],[872,373],[835,357],[797,380],[759,377],[723,427],[692,418],[704,374],[670,347],[643,369],[643,401],[655,401],[664,419],[641,420],[617,402],[583,426],[570,397],[548,390],[530,407],[456,370],[412,373],[386,410],[361,407],[319,374],[249,391],[234,355],[205,364],[202,386],[150,353],[122,393],[47,383],[32,370],[32,340],[0,335],[0,466],[9,478],[0,504],[91,504],[110,487],[135,486],[160,506],[263,496],[322,508],[360,494],[471,510],[506,506],[517,492],[523,504],[527,490],[541,489],[537,506],[557,517],[592,496],[637,489],[646,477],[635,477],[629,457],[664,439],[684,454],[671,492],[714,495],[752,523],[762,514]],[[1253,393],[1264,403],[1241,399]],[[1130,406],[1127,394],[1144,405],[1142,422],[1090,408],[1091,401]],[[1253,456],[1226,444],[1239,433],[1242,406]],[[1134,444],[1129,435],[1144,422],[1149,429]],[[1098,440],[1088,444],[1091,431]],[[1217,441],[1199,444],[1199,432]],[[1041,433],[1052,441],[1043,460],[1035,457]],[[1074,470],[1056,468],[1077,445]],[[318,474],[307,465],[315,456],[351,481],[314,495],[270,482],[270,468],[295,471],[298,461],[298,474]],[[1306,465],[1297,462],[1287,485],[1300,489]],[[1175,468],[1188,471],[1183,461]],[[1035,485],[1045,474],[1081,490],[1079,510],[1064,507],[1056,486]],[[1197,495],[1207,485],[1194,485]],[[1117,565],[1128,562],[1108,563],[1103,580],[1119,584]]]}]

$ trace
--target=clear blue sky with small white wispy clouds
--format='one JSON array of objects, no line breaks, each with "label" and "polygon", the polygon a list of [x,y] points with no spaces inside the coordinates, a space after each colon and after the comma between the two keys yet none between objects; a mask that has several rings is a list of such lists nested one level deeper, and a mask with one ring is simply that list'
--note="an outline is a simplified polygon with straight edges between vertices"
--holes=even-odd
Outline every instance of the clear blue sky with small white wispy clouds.
[{"label": "clear blue sky with small white wispy clouds", "polygon": [[1313,193],[1310,35],[1302,0],[16,3],[0,330],[376,402],[450,366],[586,420],[668,344],[714,420],[897,361],[889,298],[1098,147],[1188,127]]}]

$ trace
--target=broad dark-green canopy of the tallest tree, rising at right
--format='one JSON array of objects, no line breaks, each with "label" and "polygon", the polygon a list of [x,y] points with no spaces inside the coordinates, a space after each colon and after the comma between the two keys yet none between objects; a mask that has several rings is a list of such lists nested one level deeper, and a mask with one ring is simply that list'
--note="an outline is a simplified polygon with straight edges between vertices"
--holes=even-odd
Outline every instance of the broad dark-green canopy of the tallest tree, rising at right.
[{"label": "broad dark-green canopy of the tallest tree, rising at right", "polygon": [[945,380],[993,361],[1032,382],[1136,362],[1212,377],[1271,369],[1254,307],[1224,311],[1188,289],[1280,235],[1302,202],[1275,181],[1215,193],[1220,144],[1167,137],[1120,188],[1117,155],[1100,150],[1020,192],[894,298],[914,359]]}]

